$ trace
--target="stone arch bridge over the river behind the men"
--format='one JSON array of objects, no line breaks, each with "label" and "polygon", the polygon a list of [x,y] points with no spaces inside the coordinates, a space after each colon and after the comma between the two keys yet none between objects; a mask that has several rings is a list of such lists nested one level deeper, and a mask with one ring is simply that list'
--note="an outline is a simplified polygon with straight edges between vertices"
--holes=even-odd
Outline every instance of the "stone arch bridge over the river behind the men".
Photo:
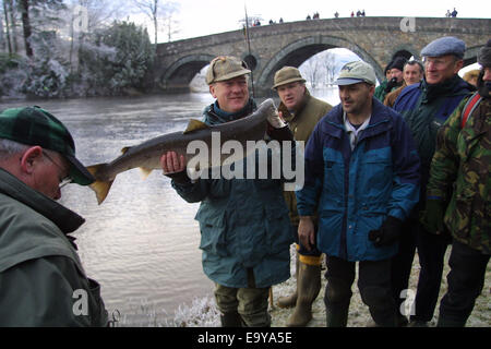
[{"label": "stone arch bridge over the river behind the men", "polygon": [[441,36],[466,43],[465,65],[491,38],[491,20],[447,17],[348,17],[311,20],[233,31],[157,45],[157,59],[147,75],[154,91],[185,92],[194,75],[220,55],[246,60],[253,71],[256,96],[271,94],[274,73],[284,65],[299,67],[323,50],[342,47],[371,63],[379,81],[396,53],[419,58],[421,49]]}]

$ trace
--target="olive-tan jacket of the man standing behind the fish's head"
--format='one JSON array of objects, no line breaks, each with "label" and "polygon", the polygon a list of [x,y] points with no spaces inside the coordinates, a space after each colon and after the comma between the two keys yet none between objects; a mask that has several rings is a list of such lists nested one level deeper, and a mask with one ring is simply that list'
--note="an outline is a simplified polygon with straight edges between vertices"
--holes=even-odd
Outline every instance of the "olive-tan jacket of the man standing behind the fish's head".
[{"label": "olive-tan jacket of the man standing behind the fish's head", "polygon": [[[312,97],[308,89],[306,89],[303,104],[296,113],[290,113],[283,103],[278,107],[278,110],[283,112],[285,121],[294,133],[295,140],[303,141],[304,145],[307,145],[307,141],[309,141],[310,134],[319,120],[325,117],[331,109],[333,109],[333,106]],[[298,226],[297,196],[294,191],[285,191],[284,196],[289,209],[290,221],[294,226]]]}]

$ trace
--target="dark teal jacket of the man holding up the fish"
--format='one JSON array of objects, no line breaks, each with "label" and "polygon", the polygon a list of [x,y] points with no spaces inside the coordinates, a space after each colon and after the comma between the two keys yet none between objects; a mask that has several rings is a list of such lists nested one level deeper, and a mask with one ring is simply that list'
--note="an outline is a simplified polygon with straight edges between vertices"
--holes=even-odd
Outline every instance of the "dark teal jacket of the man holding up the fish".
[{"label": "dark teal jacket of the man holding up the fish", "polygon": [[[227,121],[230,120],[215,112],[214,107],[205,108],[205,123]],[[201,202],[195,219],[201,229],[203,270],[213,281],[233,288],[249,287],[248,268],[252,268],[258,288],[290,277],[289,246],[294,234],[283,197],[283,180],[200,179],[187,184],[172,181],[172,186],[185,201]]]}]

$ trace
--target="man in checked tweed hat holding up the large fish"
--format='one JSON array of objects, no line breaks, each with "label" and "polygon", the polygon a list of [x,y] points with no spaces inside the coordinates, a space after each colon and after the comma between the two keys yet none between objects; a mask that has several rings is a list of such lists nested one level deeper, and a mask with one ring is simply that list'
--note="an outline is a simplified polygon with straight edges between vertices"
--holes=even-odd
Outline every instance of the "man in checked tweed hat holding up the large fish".
[{"label": "man in checked tweed hat holding up the large fish", "polygon": [[[235,57],[212,60],[206,83],[216,100],[203,111],[205,124],[233,121],[255,109],[254,100],[249,97],[250,73],[246,63]],[[294,141],[278,115],[268,117],[268,124],[272,139]],[[291,152],[291,164],[295,164],[295,142],[290,143],[294,146],[285,152]],[[270,288],[290,277],[289,246],[294,232],[283,197],[284,180],[208,176],[212,179],[191,181],[183,154],[175,152],[164,154],[160,164],[182,198],[189,203],[201,202],[195,219],[200,222],[203,269],[216,285],[215,300],[221,312],[221,325],[270,326]]]}]

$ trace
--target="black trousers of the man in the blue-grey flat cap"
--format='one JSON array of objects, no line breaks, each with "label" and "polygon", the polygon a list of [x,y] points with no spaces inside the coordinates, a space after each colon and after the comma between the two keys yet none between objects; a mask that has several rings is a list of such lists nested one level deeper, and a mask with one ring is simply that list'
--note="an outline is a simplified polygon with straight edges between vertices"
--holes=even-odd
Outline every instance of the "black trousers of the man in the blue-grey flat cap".
[{"label": "black trousers of the man in the blue-grey flat cap", "polygon": [[451,241],[450,236],[428,232],[415,218],[409,218],[403,226],[399,252],[392,260],[391,284],[394,301],[399,310],[405,301],[400,294],[408,289],[415,251],[418,249],[421,270],[411,321],[429,322],[433,318],[442,284],[444,256]]}]

